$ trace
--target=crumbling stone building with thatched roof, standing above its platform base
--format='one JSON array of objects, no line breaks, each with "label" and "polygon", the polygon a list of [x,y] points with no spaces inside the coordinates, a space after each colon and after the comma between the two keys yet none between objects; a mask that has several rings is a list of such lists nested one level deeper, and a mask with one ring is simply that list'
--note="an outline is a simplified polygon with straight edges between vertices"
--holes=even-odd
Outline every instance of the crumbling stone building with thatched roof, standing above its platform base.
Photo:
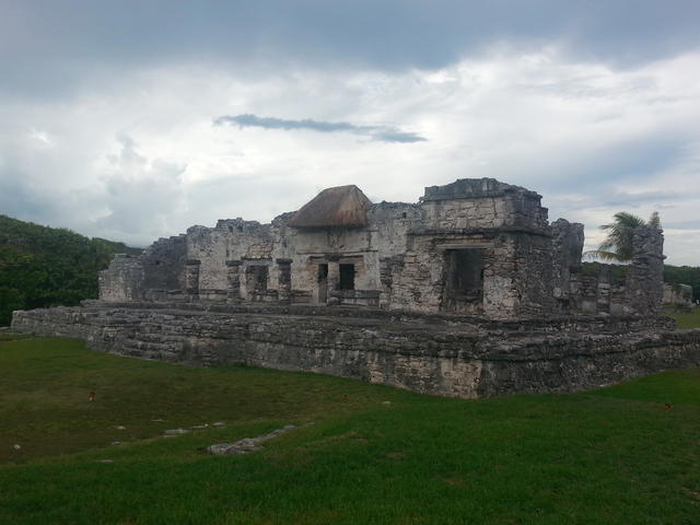
[{"label": "crumbling stone building with thatched roof, standing above its platform base", "polygon": [[583,225],[549,224],[540,200],[492,178],[425,188],[418,203],[373,205],[354,186],[329,188],[269,224],[220,220],[162,238],[137,260],[116,258],[102,275],[101,299],[369,306],[493,319],[657,311],[660,230],[635,235],[620,307],[598,299],[592,307],[581,296],[590,283],[578,277]]}]

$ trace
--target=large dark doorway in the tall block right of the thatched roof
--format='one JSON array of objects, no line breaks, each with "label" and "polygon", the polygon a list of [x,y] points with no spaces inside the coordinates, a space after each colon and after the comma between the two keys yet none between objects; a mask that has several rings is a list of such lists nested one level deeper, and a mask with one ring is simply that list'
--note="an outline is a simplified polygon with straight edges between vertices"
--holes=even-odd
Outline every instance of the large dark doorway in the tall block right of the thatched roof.
[{"label": "large dark doorway in the tall block right of the thatched roof", "polygon": [[445,310],[476,312],[483,301],[483,250],[445,252]]}]

